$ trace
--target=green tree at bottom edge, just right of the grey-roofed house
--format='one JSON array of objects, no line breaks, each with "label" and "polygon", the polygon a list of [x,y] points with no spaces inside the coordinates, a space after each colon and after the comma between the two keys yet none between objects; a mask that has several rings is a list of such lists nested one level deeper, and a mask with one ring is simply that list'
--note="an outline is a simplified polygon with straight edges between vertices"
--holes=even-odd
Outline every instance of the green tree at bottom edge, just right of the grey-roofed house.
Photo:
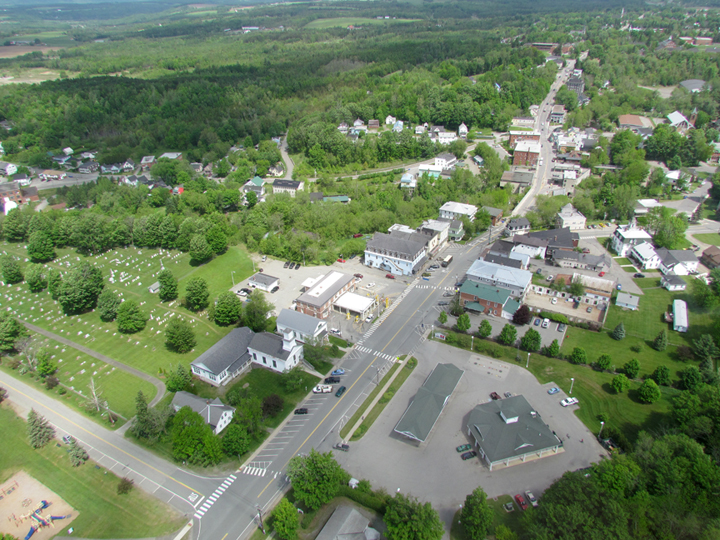
[{"label": "green tree at bottom edge, just right of the grey-roofed house", "polygon": [[388,501],[384,521],[388,540],[440,540],[445,532],[430,503],[402,493]]}]

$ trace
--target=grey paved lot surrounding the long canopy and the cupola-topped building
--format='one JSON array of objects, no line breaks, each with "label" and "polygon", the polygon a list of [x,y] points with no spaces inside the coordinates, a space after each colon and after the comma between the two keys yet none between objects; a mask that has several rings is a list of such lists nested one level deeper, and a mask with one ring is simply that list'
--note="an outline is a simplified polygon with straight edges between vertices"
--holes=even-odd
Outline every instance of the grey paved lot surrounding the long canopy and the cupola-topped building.
[{"label": "grey paved lot surrounding the long canopy and the cupola-topped building", "polygon": [[[375,488],[384,487],[391,494],[400,490],[432,503],[448,530],[465,496],[478,486],[490,497],[525,490],[539,497],[564,472],[588,467],[606,455],[573,414],[578,405],[562,407],[560,401],[568,397],[562,391],[548,395],[554,383],[541,385],[521,367],[434,341],[425,342],[414,355],[418,365],[390,405],[360,441],[350,443],[348,453],[335,456],[350,474],[369,480]],[[418,444],[393,429],[438,361],[451,362],[465,373],[428,439]],[[473,442],[467,436],[468,415],[490,399],[490,392],[525,396],[560,436],[565,451],[493,471],[478,458],[462,461],[455,447]]]}]

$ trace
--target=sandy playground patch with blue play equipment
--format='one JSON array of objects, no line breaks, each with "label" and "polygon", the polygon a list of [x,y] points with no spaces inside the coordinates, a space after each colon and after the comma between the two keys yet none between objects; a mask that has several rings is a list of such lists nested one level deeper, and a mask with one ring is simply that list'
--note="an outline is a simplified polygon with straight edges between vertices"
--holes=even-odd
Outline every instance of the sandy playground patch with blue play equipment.
[{"label": "sandy playground patch with blue play equipment", "polygon": [[[42,508],[43,501],[46,508]],[[53,520],[51,516],[63,519]],[[68,503],[23,471],[0,485],[0,533],[25,538],[34,527],[32,540],[49,540],[76,517],[77,512]]]}]

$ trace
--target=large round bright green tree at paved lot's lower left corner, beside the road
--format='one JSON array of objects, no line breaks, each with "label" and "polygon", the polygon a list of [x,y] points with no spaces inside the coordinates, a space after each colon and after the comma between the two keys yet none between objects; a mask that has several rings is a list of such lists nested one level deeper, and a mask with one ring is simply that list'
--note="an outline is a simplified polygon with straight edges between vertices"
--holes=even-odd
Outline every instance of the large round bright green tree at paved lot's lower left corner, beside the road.
[{"label": "large round bright green tree at paved lot's lower left corner, beside the road", "polygon": [[310,510],[330,502],[347,477],[331,452],[321,454],[314,448],[306,456],[292,458],[287,475],[295,498]]}]

